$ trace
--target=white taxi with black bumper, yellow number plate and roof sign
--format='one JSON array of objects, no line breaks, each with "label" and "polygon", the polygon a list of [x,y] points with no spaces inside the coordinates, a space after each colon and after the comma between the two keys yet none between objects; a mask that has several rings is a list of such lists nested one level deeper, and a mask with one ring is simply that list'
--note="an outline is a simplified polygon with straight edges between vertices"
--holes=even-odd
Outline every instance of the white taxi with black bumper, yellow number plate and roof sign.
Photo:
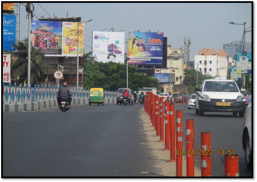
[{"label": "white taxi with black bumper, yellow number plate and roof sign", "polygon": [[204,112],[231,112],[244,117],[245,99],[235,81],[225,78],[203,80],[201,88],[195,91],[195,114],[203,116]]}]

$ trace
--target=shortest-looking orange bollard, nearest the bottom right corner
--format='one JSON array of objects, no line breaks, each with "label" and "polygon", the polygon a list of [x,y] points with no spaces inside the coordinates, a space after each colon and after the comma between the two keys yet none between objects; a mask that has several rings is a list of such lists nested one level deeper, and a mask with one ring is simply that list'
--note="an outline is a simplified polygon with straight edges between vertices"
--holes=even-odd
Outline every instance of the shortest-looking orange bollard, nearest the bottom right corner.
[{"label": "shortest-looking orange bollard, nearest the bottom right corner", "polygon": [[239,177],[238,155],[225,155],[225,175]]}]

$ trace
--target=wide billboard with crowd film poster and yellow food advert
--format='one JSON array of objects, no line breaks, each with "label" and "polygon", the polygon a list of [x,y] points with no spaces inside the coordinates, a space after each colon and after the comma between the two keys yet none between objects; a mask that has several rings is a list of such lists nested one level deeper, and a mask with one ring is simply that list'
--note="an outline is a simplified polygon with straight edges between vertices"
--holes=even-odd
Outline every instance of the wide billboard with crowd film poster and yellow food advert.
[{"label": "wide billboard with crowd film poster and yellow food advert", "polygon": [[[45,56],[77,56],[78,22],[31,22],[31,41]],[[83,55],[83,24],[79,24],[79,55]]]}]

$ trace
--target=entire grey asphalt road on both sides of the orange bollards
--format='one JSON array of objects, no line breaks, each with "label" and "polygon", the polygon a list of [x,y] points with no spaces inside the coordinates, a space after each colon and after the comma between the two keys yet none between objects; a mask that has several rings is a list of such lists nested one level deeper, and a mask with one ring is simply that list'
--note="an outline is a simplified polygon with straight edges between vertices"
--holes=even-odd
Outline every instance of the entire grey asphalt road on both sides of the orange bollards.
[{"label": "entire grey asphalt road on both sides of the orange bollards", "polygon": [[[160,177],[151,151],[141,145],[138,103],[128,106],[74,105],[66,113],[58,108],[39,112],[3,113],[3,177]],[[251,176],[242,149],[243,118],[231,113],[195,115],[183,110],[183,148],[186,119],[195,120],[195,149],[201,131],[211,132],[212,176],[224,176],[224,156],[217,149],[235,149],[240,176]],[[195,166],[200,168],[200,156]],[[145,173],[147,172],[147,173]]]}]

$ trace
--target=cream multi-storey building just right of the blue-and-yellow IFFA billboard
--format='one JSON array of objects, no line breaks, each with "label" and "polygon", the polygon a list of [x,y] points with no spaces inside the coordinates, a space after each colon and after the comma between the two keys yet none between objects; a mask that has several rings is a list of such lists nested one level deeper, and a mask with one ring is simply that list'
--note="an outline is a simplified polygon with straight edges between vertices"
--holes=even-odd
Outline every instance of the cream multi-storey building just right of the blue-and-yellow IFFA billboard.
[{"label": "cream multi-storey building just right of the blue-and-yellow IFFA billboard", "polygon": [[174,91],[174,85],[183,84],[184,63],[182,49],[172,49],[167,45],[167,68],[156,68],[155,73],[168,73],[170,82],[161,83],[161,92]]}]

